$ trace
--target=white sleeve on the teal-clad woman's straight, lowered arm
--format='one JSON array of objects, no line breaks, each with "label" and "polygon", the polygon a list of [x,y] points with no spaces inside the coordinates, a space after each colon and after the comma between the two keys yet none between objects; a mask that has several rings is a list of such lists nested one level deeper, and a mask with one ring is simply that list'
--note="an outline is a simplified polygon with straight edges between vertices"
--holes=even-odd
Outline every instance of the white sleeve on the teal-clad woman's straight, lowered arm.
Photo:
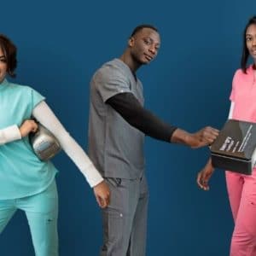
[{"label": "white sleeve on the teal-clad woman's straight, lowered arm", "polygon": [[32,115],[39,123],[44,125],[51,131],[61,144],[61,148],[73,160],[74,164],[79,167],[79,170],[84,174],[90,187],[101,183],[103,178],[96,170],[96,167],[90,161],[87,154],[79,146],[78,143],[65,130],[59,119],[56,118],[55,113],[49,108],[46,102],[40,102],[32,111]]}]

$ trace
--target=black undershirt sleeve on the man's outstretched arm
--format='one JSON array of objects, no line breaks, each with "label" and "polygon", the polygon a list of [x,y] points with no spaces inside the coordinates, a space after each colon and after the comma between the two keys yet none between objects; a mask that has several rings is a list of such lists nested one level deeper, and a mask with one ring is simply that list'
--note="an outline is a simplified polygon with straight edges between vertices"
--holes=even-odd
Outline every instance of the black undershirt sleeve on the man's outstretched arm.
[{"label": "black undershirt sleeve on the man's outstretched arm", "polygon": [[110,97],[107,102],[131,126],[149,137],[171,142],[172,133],[177,127],[168,125],[153,113],[143,108],[131,92],[119,93]]}]

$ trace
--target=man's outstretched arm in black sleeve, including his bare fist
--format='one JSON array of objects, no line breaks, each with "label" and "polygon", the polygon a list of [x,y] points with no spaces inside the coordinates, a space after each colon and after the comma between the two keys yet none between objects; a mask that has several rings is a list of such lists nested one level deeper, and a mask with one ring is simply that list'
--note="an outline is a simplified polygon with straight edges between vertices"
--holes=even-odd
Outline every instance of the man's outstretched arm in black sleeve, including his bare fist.
[{"label": "man's outstretched arm in black sleeve, including his bare fist", "polygon": [[168,125],[153,113],[143,108],[137,98],[130,92],[119,93],[106,102],[131,126],[150,137],[169,143],[181,143],[191,148],[200,148],[211,144],[218,136],[218,130],[205,127],[195,133],[183,131]]}]

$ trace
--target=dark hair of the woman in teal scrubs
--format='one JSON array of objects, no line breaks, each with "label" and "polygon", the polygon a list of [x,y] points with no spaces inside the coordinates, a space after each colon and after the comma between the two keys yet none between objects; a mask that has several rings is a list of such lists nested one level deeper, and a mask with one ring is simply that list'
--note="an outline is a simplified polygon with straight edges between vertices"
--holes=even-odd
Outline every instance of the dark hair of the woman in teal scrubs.
[{"label": "dark hair of the woman in teal scrubs", "polygon": [[13,42],[3,34],[0,34],[0,47],[6,58],[7,73],[10,77],[15,78],[15,68],[17,67],[17,48],[15,44],[13,44]]}]

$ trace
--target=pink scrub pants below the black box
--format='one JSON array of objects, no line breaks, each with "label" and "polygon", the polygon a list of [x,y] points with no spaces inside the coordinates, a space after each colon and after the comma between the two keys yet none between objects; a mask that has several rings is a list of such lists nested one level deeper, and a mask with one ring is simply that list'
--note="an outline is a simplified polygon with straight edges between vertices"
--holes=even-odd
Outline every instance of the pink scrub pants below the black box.
[{"label": "pink scrub pants below the black box", "polygon": [[251,176],[226,172],[235,228],[230,256],[256,256],[256,169]]}]

